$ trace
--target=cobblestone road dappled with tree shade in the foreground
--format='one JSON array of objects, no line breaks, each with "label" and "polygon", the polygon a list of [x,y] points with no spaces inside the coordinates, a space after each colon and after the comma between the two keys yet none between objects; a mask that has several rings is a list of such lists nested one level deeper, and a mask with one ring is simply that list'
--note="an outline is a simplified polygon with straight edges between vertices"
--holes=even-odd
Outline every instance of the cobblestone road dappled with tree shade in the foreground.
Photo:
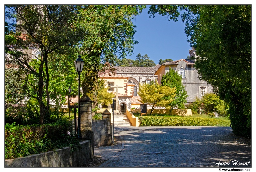
[{"label": "cobblestone road dappled with tree shade in the foreground", "polygon": [[115,138],[94,149],[99,167],[251,167],[250,140],[230,127],[115,127]]}]

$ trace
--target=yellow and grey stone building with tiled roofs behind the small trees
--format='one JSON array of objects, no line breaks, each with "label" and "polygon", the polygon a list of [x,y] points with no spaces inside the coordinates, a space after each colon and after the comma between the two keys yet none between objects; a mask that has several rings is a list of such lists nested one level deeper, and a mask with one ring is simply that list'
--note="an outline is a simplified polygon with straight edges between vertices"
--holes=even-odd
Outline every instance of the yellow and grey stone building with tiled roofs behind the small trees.
[{"label": "yellow and grey stone building with tiled roofs behind the small trees", "polygon": [[[195,56],[195,49],[189,50],[190,57]],[[126,108],[139,108],[138,96],[139,84],[157,81],[161,84],[161,78],[169,70],[173,69],[182,76],[182,84],[187,91],[187,103],[193,102],[196,97],[202,97],[205,93],[211,93],[213,87],[198,79],[198,72],[194,68],[194,61],[190,58],[166,62],[155,67],[114,67],[113,72],[101,73],[100,79],[106,80],[106,86],[115,86],[108,91],[116,93],[118,86],[118,110],[124,112]],[[105,106],[104,106],[105,107]],[[108,107],[112,108],[112,104]]]}]

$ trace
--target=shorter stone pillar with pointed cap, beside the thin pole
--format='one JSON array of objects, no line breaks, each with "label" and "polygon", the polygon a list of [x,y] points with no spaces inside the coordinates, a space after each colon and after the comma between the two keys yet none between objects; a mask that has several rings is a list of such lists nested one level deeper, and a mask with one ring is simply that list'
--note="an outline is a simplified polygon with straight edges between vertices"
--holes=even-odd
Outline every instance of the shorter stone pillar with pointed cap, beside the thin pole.
[{"label": "shorter stone pillar with pointed cap, beside the thin pole", "polygon": [[109,146],[111,145],[111,113],[106,109],[104,112],[101,113],[102,120],[106,120],[107,123],[107,130],[106,135],[101,135],[100,145],[101,146]]}]

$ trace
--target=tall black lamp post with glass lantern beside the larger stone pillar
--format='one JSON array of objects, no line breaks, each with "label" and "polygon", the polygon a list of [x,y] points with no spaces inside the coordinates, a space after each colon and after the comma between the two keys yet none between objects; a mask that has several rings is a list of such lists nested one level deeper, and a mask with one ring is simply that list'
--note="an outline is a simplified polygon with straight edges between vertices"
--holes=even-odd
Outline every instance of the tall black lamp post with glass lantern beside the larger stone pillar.
[{"label": "tall black lamp post with glass lantern beside the larger stone pillar", "polygon": [[80,99],[80,73],[83,71],[84,61],[81,57],[82,56],[79,55],[78,58],[76,59],[76,61],[74,61],[76,71],[78,72],[78,119],[77,119],[77,134],[76,134],[76,137],[78,139],[82,138],[81,123],[80,123],[80,103],[79,103],[79,99]]}]

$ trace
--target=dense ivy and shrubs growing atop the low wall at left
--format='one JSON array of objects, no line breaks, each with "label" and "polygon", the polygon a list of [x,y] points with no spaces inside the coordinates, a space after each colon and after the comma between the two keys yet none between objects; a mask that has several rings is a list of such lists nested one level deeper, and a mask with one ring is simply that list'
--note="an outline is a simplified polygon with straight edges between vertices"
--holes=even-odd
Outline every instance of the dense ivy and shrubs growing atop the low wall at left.
[{"label": "dense ivy and shrubs growing atop the low wall at left", "polygon": [[22,126],[5,125],[5,159],[25,157],[79,142],[72,136],[72,122],[61,120],[53,124]]}]

